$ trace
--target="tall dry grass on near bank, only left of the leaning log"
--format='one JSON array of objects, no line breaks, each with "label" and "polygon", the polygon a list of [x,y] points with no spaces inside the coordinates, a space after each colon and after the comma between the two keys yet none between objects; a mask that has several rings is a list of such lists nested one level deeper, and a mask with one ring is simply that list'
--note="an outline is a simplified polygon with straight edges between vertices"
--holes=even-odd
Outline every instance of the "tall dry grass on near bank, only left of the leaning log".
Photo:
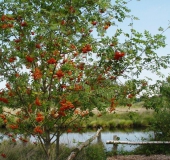
[{"label": "tall dry grass on near bank, only left of the leaning log", "polygon": [[[70,152],[71,148],[68,148],[65,145],[60,145],[59,160],[65,160],[69,156]],[[46,159],[46,155],[40,145],[35,145],[30,142],[23,144],[18,141],[13,143],[10,140],[4,140],[0,145],[0,153],[4,153],[6,155],[6,160]],[[56,159],[54,147],[52,148],[52,159]]]}]

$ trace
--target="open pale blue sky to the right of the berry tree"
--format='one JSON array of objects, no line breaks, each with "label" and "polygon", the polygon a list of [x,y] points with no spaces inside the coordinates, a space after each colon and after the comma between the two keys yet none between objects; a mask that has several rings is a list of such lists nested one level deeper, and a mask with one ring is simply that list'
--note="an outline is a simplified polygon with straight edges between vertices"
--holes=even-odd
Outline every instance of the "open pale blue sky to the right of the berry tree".
[{"label": "open pale blue sky to the right of the berry tree", "polygon": [[[130,15],[138,17],[139,20],[133,22],[133,28],[138,32],[148,30],[151,34],[158,34],[159,27],[166,29],[170,26],[170,0],[127,0],[127,6],[131,10]],[[124,31],[128,31],[127,24],[130,19],[120,24]],[[108,35],[111,30],[108,30]],[[157,50],[159,56],[170,54],[170,28],[163,34],[166,38],[167,46]],[[169,69],[161,69],[161,72],[167,77],[170,73]],[[156,80],[164,80],[149,71],[143,71],[140,78],[150,77],[153,79],[151,83]]]}]

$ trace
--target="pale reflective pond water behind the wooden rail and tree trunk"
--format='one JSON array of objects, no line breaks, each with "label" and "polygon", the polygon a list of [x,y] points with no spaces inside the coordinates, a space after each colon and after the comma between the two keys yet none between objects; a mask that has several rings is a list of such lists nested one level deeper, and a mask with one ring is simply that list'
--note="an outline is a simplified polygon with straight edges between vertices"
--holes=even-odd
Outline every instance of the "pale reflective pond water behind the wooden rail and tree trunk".
[{"label": "pale reflective pond water behind the wooden rail and tree trunk", "polygon": [[[85,133],[64,133],[60,137],[60,144],[65,144],[68,147],[76,147],[81,142],[85,142],[93,135],[96,134],[96,131],[87,131]],[[102,131],[101,132],[101,141],[103,142],[106,151],[111,151],[113,149],[113,144],[106,144],[106,141],[113,140],[113,136],[117,135],[120,138],[120,141],[144,141],[154,136],[153,132],[146,132],[144,130],[113,130],[113,131]],[[20,137],[18,135],[17,137]],[[3,137],[3,139],[7,139],[8,136]],[[2,140],[2,139],[1,139]],[[55,140],[55,139],[54,139]],[[35,142],[35,137],[30,137],[31,142]],[[97,143],[97,138],[92,142]],[[132,151],[138,145],[126,145],[126,144],[119,144],[118,151]]]}]

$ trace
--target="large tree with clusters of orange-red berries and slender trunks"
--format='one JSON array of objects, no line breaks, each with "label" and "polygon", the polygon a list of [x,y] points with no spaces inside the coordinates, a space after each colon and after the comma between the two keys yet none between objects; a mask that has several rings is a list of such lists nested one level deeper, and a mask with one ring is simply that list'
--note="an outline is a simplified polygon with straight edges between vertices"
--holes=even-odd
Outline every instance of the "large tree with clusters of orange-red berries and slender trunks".
[{"label": "large tree with clusters of orange-red berries and slender trunks", "polygon": [[[54,142],[58,157],[60,135],[80,130],[94,108],[131,105],[147,85],[124,85],[119,77],[167,67],[169,57],[155,52],[165,47],[162,33],[116,27],[130,12],[123,0],[13,0],[0,7],[1,118],[9,130],[36,136],[46,159]],[[19,111],[5,114],[4,106]]]}]

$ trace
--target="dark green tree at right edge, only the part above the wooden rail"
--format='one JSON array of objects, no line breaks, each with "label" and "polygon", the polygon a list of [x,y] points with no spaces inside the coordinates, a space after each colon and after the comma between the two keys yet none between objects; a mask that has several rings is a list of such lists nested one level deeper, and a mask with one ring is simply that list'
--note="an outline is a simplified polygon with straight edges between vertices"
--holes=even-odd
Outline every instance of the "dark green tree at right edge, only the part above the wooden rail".
[{"label": "dark green tree at right edge, only the part above the wooden rail", "polygon": [[145,97],[144,106],[155,110],[152,130],[155,132],[156,139],[169,140],[170,139],[170,77],[166,81],[157,82],[159,92],[157,95]]}]

